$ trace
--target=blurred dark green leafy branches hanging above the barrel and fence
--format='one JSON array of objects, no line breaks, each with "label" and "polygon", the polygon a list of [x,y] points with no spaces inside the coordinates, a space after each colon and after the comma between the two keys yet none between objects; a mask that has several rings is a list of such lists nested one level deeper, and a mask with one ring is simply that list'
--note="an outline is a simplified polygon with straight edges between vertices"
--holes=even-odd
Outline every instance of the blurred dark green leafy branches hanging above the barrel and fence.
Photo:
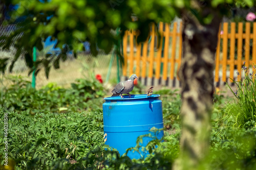
[{"label": "blurred dark green leafy branches hanging above the barrel and fence", "polygon": [[[3,26],[16,24],[15,31],[0,36],[3,50],[11,47],[16,49],[14,58],[1,60],[1,67],[6,67],[7,61],[11,60],[11,71],[22,54],[31,69],[30,72],[41,67],[45,69],[48,77],[51,66],[59,68],[59,62],[66,61],[67,52],[72,51],[76,58],[78,52],[85,51],[83,43],[86,41],[90,42],[90,52],[96,56],[98,49],[109,54],[113,45],[118,45],[125,30],[138,29],[141,34],[137,40],[145,40],[149,35],[151,22],[157,24],[160,20],[170,22],[174,19],[175,10],[172,4],[174,1],[155,0],[1,1],[9,16],[3,21]],[[15,8],[11,8],[13,5]],[[121,30],[120,34],[116,34],[117,28]],[[33,62],[33,46],[41,51],[42,41],[49,36],[52,40],[58,40],[56,47],[61,52],[54,57],[45,55]],[[119,52],[117,55],[122,58]]]}]

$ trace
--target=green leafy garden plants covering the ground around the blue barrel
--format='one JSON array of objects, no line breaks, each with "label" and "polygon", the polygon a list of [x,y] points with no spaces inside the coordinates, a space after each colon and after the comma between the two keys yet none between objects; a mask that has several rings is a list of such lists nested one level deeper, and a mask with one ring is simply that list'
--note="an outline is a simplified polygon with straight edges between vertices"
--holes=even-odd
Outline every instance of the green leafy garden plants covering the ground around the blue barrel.
[{"label": "green leafy garden plants covering the ground around the blue barrel", "polygon": [[[131,160],[104,145],[102,103],[108,91],[97,80],[78,79],[67,89],[48,84],[35,90],[20,77],[9,79],[12,85],[1,94],[0,127],[8,113],[9,165],[15,169],[170,169],[179,156],[181,96],[178,91],[164,88],[155,91],[161,94],[163,102],[165,135],[143,148],[151,153],[148,157]],[[246,78],[241,82],[245,81]],[[234,101],[224,98],[222,93],[215,94],[210,153],[202,162],[202,169],[256,168],[255,110],[251,110],[252,117],[247,116],[241,122],[238,115],[244,112],[232,109],[234,105],[242,108],[248,101],[253,105],[251,98],[243,97],[250,93],[246,90],[254,92],[253,83],[247,83],[248,88],[238,86],[243,93],[238,97],[234,92],[238,97]],[[144,91],[141,85],[134,89],[137,94]],[[139,141],[135,150],[140,147]],[[3,147],[0,138],[0,148]],[[3,154],[4,150],[0,150],[2,167]]]}]

